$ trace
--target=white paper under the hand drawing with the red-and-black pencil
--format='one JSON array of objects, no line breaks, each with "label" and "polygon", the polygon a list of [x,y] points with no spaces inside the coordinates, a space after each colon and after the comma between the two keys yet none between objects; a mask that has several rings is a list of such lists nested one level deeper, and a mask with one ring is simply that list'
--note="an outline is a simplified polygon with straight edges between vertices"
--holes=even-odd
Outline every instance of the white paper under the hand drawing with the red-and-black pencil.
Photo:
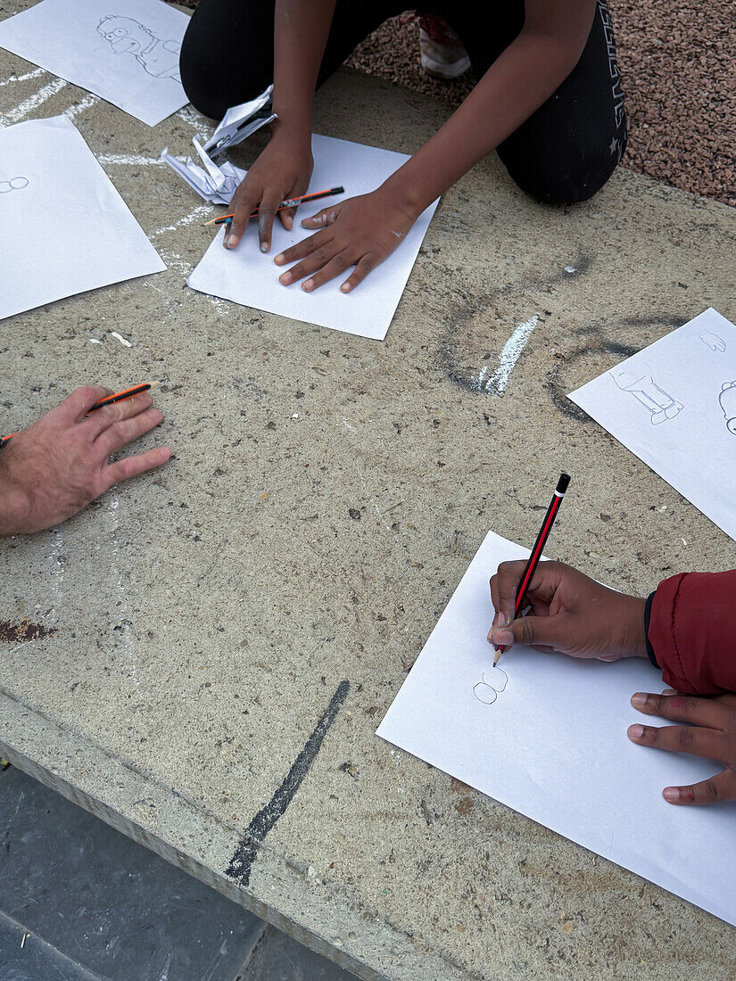
[{"label": "white paper under the hand drawing with the red-and-black pencil", "polygon": [[650,662],[606,664],[519,646],[494,669],[488,581],[499,562],[528,555],[486,536],[378,735],[736,924],[736,801],[685,807],[661,797],[662,788],[721,767],[636,746],[626,735],[634,722],[669,724],[629,702],[634,692],[662,690]]}]

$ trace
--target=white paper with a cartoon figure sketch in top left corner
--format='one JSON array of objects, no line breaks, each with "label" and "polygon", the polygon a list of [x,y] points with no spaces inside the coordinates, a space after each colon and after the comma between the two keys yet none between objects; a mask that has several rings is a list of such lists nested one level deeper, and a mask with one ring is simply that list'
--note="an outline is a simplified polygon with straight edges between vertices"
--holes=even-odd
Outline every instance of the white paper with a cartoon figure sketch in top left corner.
[{"label": "white paper with a cartoon figure sketch in top left corner", "polygon": [[155,126],[189,101],[186,14],[161,0],[41,0],[0,24],[0,47]]}]

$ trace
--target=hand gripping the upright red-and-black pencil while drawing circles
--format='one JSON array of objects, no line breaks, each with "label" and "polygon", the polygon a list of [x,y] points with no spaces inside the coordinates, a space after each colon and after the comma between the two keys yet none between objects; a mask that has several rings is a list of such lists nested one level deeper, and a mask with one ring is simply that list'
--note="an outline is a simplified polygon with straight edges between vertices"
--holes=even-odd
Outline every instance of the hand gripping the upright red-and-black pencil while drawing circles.
[{"label": "hand gripping the upright red-and-black pencil while drawing circles", "polygon": [[645,600],[615,593],[563,562],[540,562],[527,597],[530,615],[513,619],[525,561],[501,562],[491,579],[496,616],[491,644],[528,644],[572,657],[646,657]]}]

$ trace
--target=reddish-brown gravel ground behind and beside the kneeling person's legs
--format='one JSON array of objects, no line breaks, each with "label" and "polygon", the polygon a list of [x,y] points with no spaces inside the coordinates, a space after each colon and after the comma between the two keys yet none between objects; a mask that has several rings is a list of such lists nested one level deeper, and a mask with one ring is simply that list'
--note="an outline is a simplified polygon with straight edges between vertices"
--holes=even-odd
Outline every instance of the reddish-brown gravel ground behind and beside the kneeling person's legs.
[{"label": "reddish-brown gravel ground behind and beside the kneeling person's legs", "polygon": [[[196,0],[185,0],[196,6]],[[736,206],[736,3],[610,0],[629,116],[624,166]],[[471,75],[427,77],[417,26],[387,21],[347,62],[458,105]]]}]

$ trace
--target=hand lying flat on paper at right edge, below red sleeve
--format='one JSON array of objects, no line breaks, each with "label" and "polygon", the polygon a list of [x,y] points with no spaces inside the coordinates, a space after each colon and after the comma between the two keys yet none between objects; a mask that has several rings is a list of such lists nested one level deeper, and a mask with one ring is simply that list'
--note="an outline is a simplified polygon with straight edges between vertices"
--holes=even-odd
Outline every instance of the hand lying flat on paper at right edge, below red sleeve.
[{"label": "hand lying flat on paper at right edge, below red sleeve", "polygon": [[629,739],[640,746],[705,756],[725,769],[691,787],[665,787],[670,803],[736,800],[736,695],[699,698],[668,689],[661,695],[637,692],[631,704],[647,715],[687,723],[680,726],[629,726]]}]

